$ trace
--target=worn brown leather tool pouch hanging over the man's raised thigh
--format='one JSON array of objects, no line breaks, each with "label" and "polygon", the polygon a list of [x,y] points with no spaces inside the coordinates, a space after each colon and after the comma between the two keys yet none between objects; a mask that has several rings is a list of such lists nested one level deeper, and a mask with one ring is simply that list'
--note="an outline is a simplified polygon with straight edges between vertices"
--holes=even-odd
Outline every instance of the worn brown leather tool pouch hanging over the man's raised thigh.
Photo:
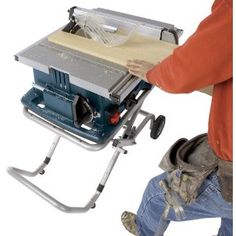
[{"label": "worn brown leather tool pouch hanging over the man's raised thigh", "polygon": [[188,204],[194,201],[205,178],[218,164],[218,158],[202,134],[191,140],[179,139],[163,157],[160,168],[167,171],[169,187]]}]

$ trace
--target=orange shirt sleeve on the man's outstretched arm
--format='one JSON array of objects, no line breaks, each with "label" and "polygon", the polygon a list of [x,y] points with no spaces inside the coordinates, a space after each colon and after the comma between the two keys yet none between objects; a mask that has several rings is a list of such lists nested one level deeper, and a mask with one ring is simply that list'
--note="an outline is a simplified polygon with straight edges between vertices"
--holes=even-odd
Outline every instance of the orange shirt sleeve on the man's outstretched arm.
[{"label": "orange shirt sleeve on the man's outstretched arm", "polygon": [[232,0],[216,0],[196,32],[147,73],[151,84],[170,93],[192,92],[231,77]]}]

